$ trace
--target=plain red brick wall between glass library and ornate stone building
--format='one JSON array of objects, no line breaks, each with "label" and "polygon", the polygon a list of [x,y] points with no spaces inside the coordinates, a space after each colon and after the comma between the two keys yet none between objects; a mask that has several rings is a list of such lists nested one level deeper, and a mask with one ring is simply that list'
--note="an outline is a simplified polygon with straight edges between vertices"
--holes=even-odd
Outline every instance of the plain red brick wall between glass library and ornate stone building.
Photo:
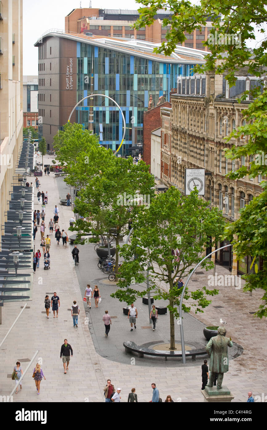
[{"label": "plain red brick wall between glass library and ornate stone building", "polygon": [[[144,112],[143,120],[143,160],[146,164],[151,163],[151,132],[158,127],[161,127],[161,107],[172,107],[171,103],[165,103],[153,107],[149,111]],[[149,169],[150,171],[150,169]]]}]

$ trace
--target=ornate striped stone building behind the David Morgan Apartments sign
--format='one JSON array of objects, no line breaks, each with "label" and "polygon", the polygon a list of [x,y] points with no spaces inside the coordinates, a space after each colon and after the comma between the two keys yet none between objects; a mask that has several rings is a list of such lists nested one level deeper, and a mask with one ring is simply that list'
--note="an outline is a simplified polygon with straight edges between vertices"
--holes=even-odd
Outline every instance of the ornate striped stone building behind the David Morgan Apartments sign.
[{"label": "ornate striped stone building behind the David Morgan Apartments sign", "polygon": [[[244,73],[244,71],[242,71]],[[246,101],[238,103],[238,98],[245,90],[256,84],[255,77],[247,77],[240,72],[235,86],[229,89],[223,75],[209,73],[192,77],[178,78],[178,92],[171,95],[172,103],[172,146],[170,180],[162,176],[164,182],[175,185],[184,192],[185,168],[206,169],[205,196],[211,206],[218,206],[228,221],[240,216],[243,208],[254,196],[261,193],[259,175],[233,181],[226,174],[247,166],[251,157],[240,160],[227,160],[224,148],[233,144],[245,143],[244,139],[231,138],[226,143],[224,138],[237,127],[245,125],[242,111],[249,106]],[[264,78],[264,85],[267,78]],[[217,248],[227,243],[218,243]],[[207,249],[207,253],[211,249]],[[237,262],[229,248],[215,254],[216,263],[225,265],[233,274],[250,272],[250,257]],[[253,270],[253,268],[252,268]]]}]

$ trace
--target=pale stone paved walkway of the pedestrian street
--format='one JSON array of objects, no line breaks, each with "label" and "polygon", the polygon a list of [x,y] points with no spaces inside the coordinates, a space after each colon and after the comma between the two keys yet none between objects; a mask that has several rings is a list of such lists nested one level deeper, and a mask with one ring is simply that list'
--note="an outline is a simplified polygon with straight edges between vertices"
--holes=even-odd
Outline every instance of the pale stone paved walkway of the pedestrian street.
[{"label": "pale stone paved walkway of the pedestrian street", "polygon": [[[47,156],[44,157],[45,163],[49,163],[47,158]],[[48,225],[48,220],[53,217],[55,204],[58,205],[60,197],[62,198],[53,173],[50,177],[41,178],[40,189],[48,190],[49,193],[49,204],[46,210],[46,225]],[[38,209],[40,205],[36,194],[35,190],[34,203],[35,209]],[[71,209],[67,206],[59,206],[59,210],[60,227],[67,229],[72,215]],[[39,240],[38,228],[34,241],[36,246],[39,246]],[[152,396],[151,383],[154,381],[163,399],[170,394],[176,401],[203,402],[200,390],[201,369],[197,366],[165,368],[155,365],[137,366],[134,365],[130,354],[129,364],[121,364],[96,353],[86,319],[88,314],[82,306],[84,286],[79,286],[70,250],[70,245],[67,245],[67,249],[62,244],[58,246],[55,238],[52,237],[51,270],[44,271],[42,263],[36,270],[33,301],[28,302],[30,309],[24,310],[0,351],[2,364],[0,394],[8,395],[14,386],[14,381],[7,378],[7,375],[12,373],[15,362],[20,360],[22,369],[25,369],[27,362],[22,362],[22,359],[31,359],[34,352],[39,350],[38,356],[42,357],[42,369],[46,376],[46,381],[43,380],[41,383],[40,395],[36,394],[35,384],[31,378],[32,372],[29,371],[23,381],[23,389],[18,395],[14,395],[15,402],[101,402],[104,399],[103,385],[107,378],[110,378],[115,386],[121,387],[123,402],[127,401],[132,387],[136,387],[139,401],[149,401]],[[79,270],[82,270],[81,266]],[[224,273],[225,268],[216,266],[216,271]],[[198,279],[201,285],[207,285],[206,276],[206,274],[195,275],[195,279]],[[91,281],[91,279],[88,280]],[[195,288],[194,284],[197,283],[191,283],[190,288]],[[252,390],[254,395],[267,394],[266,320],[255,319],[249,313],[257,309],[261,294],[253,292],[252,297],[249,297],[249,293],[243,293],[242,289],[235,290],[234,287],[218,289],[220,294],[212,298],[212,304],[203,314],[195,317],[206,325],[217,325],[218,318],[222,317],[228,322],[229,335],[243,346],[243,354],[231,360],[230,371],[225,375],[224,382],[234,394],[234,402],[245,402],[248,390]],[[57,292],[61,302],[59,317],[54,319],[51,313],[47,319],[46,314],[43,313],[44,298],[46,294],[49,294],[50,298],[54,291]],[[75,299],[81,309],[78,329],[73,328],[69,310]],[[4,304],[0,339],[3,339],[23,304],[23,302]],[[216,309],[215,306],[222,306],[222,308]],[[118,310],[121,310],[120,303],[118,303]],[[101,313],[103,313],[102,308]],[[115,329],[115,325],[112,329],[113,327]],[[190,333],[186,332],[185,337],[190,338]],[[60,359],[64,338],[68,339],[74,353],[67,375],[64,375]],[[112,341],[111,338],[108,340]]]}]

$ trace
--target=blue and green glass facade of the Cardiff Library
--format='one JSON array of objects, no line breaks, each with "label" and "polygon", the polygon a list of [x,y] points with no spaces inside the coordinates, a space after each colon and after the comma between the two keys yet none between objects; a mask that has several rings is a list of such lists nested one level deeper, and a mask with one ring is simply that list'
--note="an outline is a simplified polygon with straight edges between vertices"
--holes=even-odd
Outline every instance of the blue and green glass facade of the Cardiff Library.
[{"label": "blue and green glass facade of the Cardiff Library", "polygon": [[[143,143],[143,112],[152,94],[154,106],[158,98],[169,101],[170,90],[177,87],[177,75],[190,76],[194,65],[169,64],[118,52],[90,43],[77,42],[77,102],[89,95],[93,60],[94,93],[113,98],[124,113],[126,135],[121,154],[129,153],[129,145]],[[76,121],[88,129],[88,100],[76,108]],[[115,150],[121,143],[123,127],[118,108],[104,97],[94,98],[94,132],[101,144]]]}]

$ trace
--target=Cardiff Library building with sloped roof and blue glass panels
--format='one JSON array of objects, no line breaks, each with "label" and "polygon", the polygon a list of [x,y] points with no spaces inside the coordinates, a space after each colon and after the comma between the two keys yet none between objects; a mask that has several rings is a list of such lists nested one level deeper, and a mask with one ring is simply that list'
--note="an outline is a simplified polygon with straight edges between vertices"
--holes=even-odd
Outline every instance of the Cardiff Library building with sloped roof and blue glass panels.
[{"label": "Cardiff Library building with sloped roof and blue glass panels", "polygon": [[[65,32],[44,34],[39,49],[39,116],[42,134],[49,147],[53,136],[65,123],[77,101],[90,94],[93,67],[94,93],[113,98],[126,120],[125,143],[121,155],[143,142],[143,113],[152,94],[169,101],[177,76],[190,76],[195,64],[203,64],[205,52],[177,46],[170,57],[153,52],[156,44],[144,40],[84,36]],[[72,115],[73,122],[88,129],[89,101],[83,101]],[[112,101],[94,98],[94,132],[101,144],[115,150],[121,143],[122,117]]]}]

